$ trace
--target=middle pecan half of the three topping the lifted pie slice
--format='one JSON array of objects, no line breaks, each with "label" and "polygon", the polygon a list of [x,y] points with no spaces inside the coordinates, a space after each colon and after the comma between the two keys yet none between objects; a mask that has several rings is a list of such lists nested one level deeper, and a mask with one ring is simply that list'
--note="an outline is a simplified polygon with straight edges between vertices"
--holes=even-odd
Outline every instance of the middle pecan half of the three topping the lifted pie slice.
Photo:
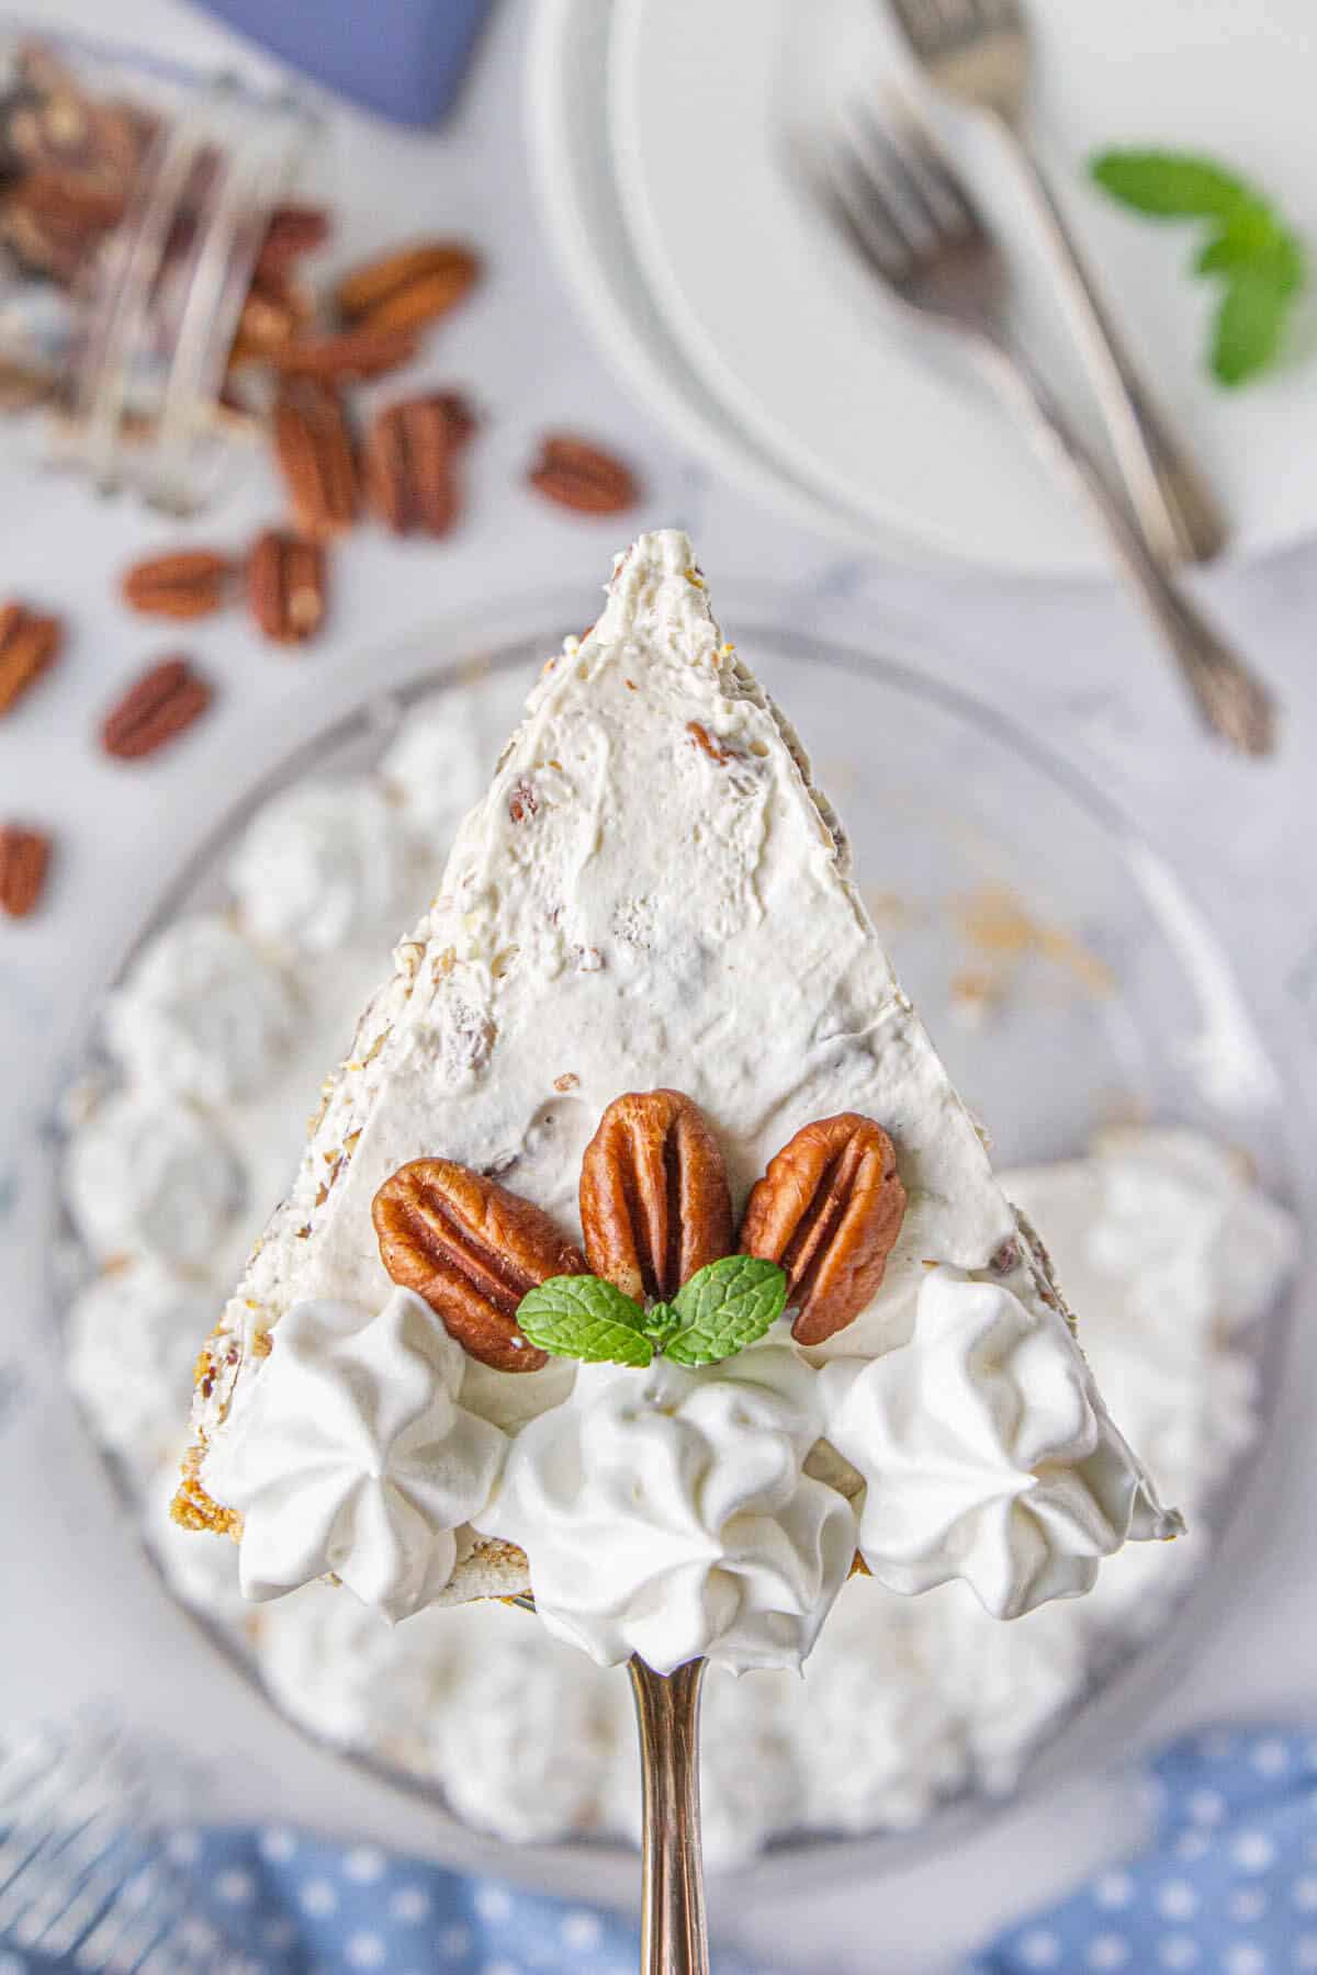
[{"label": "middle pecan half of the three topping the lifted pie slice", "polygon": [[731,1254],[723,1153],[687,1096],[614,1098],[581,1161],[581,1226],[594,1274],[634,1298],[671,1298]]}]

